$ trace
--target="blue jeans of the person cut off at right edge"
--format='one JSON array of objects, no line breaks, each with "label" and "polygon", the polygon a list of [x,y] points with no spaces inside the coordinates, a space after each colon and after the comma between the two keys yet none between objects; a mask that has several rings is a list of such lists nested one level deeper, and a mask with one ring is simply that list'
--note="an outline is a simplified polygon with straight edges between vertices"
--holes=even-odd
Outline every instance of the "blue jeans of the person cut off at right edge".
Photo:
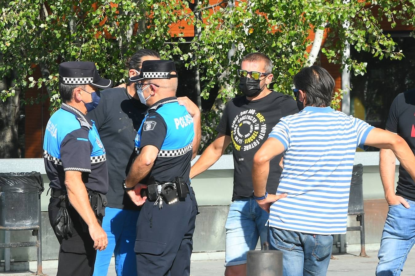
[{"label": "blue jeans of the person cut off at right edge", "polygon": [[389,206],[378,252],[376,276],[400,275],[415,243],[415,202],[405,200],[410,205],[409,209],[402,204]]}]

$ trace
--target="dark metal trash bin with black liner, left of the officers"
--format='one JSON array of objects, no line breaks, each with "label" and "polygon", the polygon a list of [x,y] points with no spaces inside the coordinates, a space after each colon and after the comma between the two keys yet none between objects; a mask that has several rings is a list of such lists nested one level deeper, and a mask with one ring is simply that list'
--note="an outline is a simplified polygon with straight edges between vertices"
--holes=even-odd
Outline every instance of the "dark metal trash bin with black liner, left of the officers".
[{"label": "dark metal trash bin with black liner, left of the officers", "polygon": [[[42,273],[40,194],[43,179],[38,172],[0,173],[0,230],[5,231],[5,271],[10,270],[10,248],[37,247],[37,274]],[[10,242],[10,230],[32,230],[36,242]]]}]

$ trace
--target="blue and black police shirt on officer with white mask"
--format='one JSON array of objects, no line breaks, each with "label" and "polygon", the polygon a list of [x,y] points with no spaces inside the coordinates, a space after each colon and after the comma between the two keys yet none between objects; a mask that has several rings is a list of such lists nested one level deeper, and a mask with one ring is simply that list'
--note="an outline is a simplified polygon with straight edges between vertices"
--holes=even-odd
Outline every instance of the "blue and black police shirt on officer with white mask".
[{"label": "blue and black police shirt on officer with white mask", "polygon": [[159,183],[173,182],[180,176],[190,183],[194,135],[193,118],[176,97],[164,98],[151,106],[135,139],[137,154],[148,145],[159,149],[148,176],[154,176]]}]

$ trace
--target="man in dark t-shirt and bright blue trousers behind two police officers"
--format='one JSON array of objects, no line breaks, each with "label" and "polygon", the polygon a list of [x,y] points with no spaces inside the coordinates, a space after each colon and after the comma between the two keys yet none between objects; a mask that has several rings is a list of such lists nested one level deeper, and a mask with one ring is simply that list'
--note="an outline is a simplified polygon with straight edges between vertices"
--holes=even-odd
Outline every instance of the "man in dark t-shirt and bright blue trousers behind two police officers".
[{"label": "man in dark t-shirt and bright blue trousers behind two police officers", "polygon": [[[126,62],[129,77],[138,76],[142,62],[160,60],[154,50],[137,50]],[[138,84],[138,85],[137,85]],[[129,82],[126,87],[115,87],[100,92],[100,101],[88,117],[95,121],[107,151],[109,190],[103,228],[108,236],[107,250],[98,252],[94,276],[107,275],[112,253],[115,257],[117,276],[137,275],[134,241],[141,207],[134,204],[122,189],[129,168],[136,156],[134,139],[144,119],[147,106],[140,101],[141,83]],[[139,91],[137,91],[137,88]],[[187,97],[178,98],[193,115],[200,129],[200,111]],[[199,122],[199,124],[197,124]],[[200,131],[199,137],[200,137]],[[199,138],[200,139],[200,138]],[[195,149],[197,151],[197,149]],[[196,154],[196,152],[195,152]]]}]

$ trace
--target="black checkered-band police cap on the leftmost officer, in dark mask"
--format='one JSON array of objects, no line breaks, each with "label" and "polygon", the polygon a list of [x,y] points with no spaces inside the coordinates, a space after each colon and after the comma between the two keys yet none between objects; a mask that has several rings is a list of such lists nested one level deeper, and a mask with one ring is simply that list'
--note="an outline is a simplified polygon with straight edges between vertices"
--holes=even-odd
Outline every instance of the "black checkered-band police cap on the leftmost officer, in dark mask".
[{"label": "black checkered-band police cap on the leftmost officer, in dark mask", "polygon": [[94,62],[66,61],[59,64],[59,77],[63,84],[91,84],[101,89],[111,88],[112,81],[103,79],[98,74]]}]

